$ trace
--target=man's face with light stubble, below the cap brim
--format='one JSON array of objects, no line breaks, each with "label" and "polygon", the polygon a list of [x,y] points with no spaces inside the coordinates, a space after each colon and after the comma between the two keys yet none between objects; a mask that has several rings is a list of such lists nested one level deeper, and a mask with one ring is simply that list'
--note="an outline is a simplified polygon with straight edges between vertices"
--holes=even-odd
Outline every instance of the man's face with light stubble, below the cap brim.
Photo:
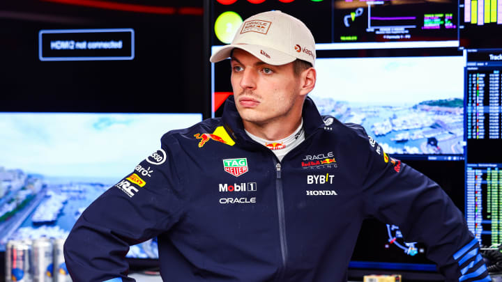
[{"label": "man's face with light stubble, below the cap brim", "polygon": [[268,65],[242,49],[234,49],[231,85],[244,122],[263,126],[301,116],[304,97],[293,63]]}]

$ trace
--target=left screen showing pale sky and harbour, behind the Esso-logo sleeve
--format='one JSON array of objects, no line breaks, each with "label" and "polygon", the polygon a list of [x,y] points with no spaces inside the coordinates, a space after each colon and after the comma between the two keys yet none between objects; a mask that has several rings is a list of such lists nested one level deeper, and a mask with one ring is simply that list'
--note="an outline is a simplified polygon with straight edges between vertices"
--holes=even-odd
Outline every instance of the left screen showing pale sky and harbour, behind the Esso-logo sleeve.
[{"label": "left screen showing pale sky and harbour, behind the Esso-logo sleeve", "polygon": [[[82,211],[200,113],[0,113],[0,251],[66,237]],[[158,258],[155,240],[128,257]]]}]

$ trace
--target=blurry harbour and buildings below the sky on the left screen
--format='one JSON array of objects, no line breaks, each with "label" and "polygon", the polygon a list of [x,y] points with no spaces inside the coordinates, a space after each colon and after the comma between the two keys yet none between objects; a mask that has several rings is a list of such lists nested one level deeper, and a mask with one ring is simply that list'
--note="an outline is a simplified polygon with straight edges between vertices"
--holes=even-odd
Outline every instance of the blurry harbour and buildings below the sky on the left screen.
[{"label": "blurry harbour and buildings below the sky on the left screen", "polygon": [[[8,240],[66,238],[84,209],[113,186],[114,183],[110,183],[45,178],[20,169],[0,167],[2,250]],[[150,240],[132,246],[128,256],[157,258],[156,242]]]}]

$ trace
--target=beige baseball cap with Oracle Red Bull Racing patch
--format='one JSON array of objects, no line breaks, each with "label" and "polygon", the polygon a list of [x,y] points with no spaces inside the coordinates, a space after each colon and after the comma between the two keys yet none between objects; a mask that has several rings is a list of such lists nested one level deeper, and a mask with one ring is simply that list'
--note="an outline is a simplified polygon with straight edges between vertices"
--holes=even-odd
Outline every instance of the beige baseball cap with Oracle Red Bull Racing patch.
[{"label": "beige baseball cap with Oracle Red Bull Racing patch", "polygon": [[259,13],[245,19],[230,45],[209,58],[216,63],[229,58],[234,48],[243,49],[271,65],[284,65],[297,58],[315,62],[315,41],[310,30],[296,17],[279,10]]}]

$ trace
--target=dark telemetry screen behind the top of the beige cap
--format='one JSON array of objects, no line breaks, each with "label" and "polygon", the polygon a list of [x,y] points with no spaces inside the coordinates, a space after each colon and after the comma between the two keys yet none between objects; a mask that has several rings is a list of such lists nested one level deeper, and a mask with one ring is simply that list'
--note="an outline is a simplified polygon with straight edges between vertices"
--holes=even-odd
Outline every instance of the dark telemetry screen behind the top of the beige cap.
[{"label": "dark telemetry screen behind the top of the beige cap", "polygon": [[337,49],[351,49],[359,43],[406,46],[405,42],[422,42],[429,47],[458,46],[457,1],[453,0],[209,2],[214,31],[212,45],[228,44],[243,19],[254,13],[281,10],[305,22],[317,43],[332,43],[331,47]]}]

